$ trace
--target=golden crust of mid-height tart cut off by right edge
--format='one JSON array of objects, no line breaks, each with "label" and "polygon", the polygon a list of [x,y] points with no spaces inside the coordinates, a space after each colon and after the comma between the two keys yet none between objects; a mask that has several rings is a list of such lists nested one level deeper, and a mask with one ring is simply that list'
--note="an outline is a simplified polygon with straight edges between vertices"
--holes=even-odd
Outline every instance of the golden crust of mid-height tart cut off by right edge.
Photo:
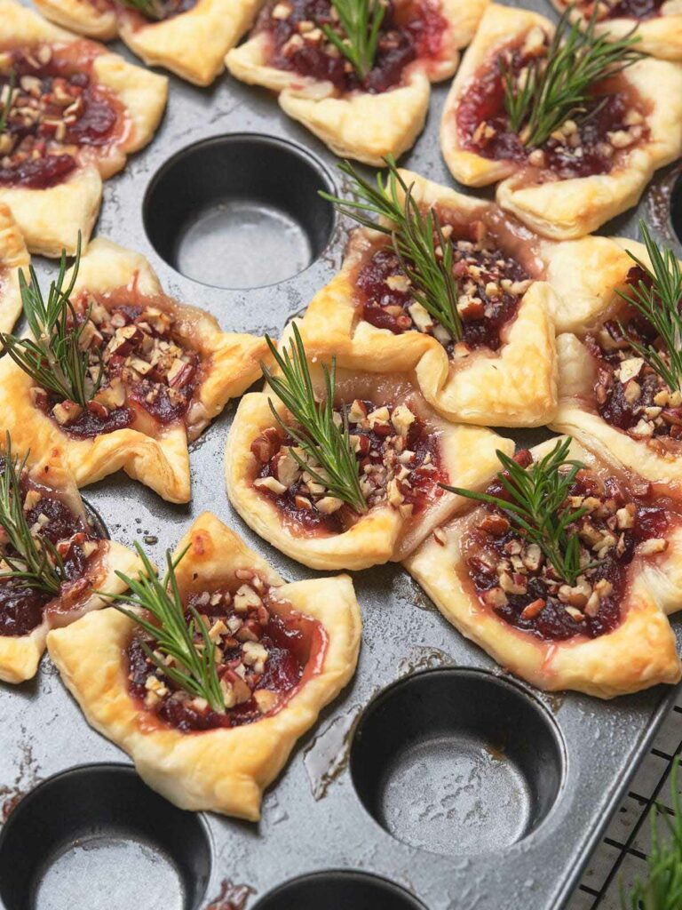
[{"label": "golden crust of mid-height tart cut off by right edge", "polygon": [[[596,299],[595,306],[577,313],[565,327],[570,330],[557,338],[559,407],[551,426],[558,432],[570,433],[597,453],[610,456],[625,469],[637,471],[662,490],[682,494],[682,446],[676,453],[663,450],[655,442],[634,439],[625,430],[608,424],[595,407],[596,364],[582,339],[588,330],[614,317],[622,305],[617,289],[626,287],[627,273],[634,265],[627,250],[651,267],[643,244],[628,238],[603,239],[600,252],[611,287],[602,298],[601,307]],[[595,258],[592,265],[599,268],[599,259]]]}]

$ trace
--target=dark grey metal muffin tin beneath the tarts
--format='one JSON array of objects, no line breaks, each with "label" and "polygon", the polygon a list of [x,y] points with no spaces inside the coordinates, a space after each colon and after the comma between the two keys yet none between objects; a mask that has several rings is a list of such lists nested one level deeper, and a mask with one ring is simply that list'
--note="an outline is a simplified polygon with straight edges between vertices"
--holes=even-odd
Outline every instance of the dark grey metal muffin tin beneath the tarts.
[{"label": "dark grey metal muffin tin beneath the tarts", "polygon": [[[524,5],[553,15],[545,0],[527,0]],[[116,50],[130,56],[122,47],[116,46]],[[403,163],[426,177],[452,185],[438,144],[446,90],[447,86],[436,86],[426,130]],[[147,187],[169,159],[211,137],[233,134],[242,136],[231,138],[227,145],[219,144],[217,158],[215,148],[211,151],[212,144],[194,151],[192,166],[207,175],[199,190],[194,184],[187,187],[177,162],[166,167],[155,194],[148,197],[151,202],[145,216]],[[275,137],[293,144],[294,149],[288,150],[279,142],[261,144],[259,136]],[[181,156],[181,163],[182,160]],[[341,263],[347,226],[330,218],[311,191],[319,180],[342,188],[334,173],[335,163],[326,148],[286,117],[266,91],[241,85],[227,76],[206,90],[172,78],[167,114],[154,143],[105,186],[97,233],[144,253],[169,293],[206,308],[226,329],[277,335],[287,319],[305,308]],[[637,217],[641,215],[667,242],[675,242],[670,200],[679,172],[676,166],[659,172],[637,212],[618,218],[603,233],[635,237]],[[217,268],[211,280],[219,282],[222,258],[230,260],[236,283],[246,283],[240,282],[238,276],[248,278],[248,245],[226,246],[225,235],[210,228],[209,211],[214,196],[228,196],[230,187],[246,185],[251,187],[248,192],[257,204],[264,202],[265,192],[264,205],[269,198],[275,207],[284,207],[293,214],[293,226],[289,223],[282,228],[290,239],[287,257],[305,262],[312,255],[313,264],[295,278],[278,284],[239,290],[202,284],[167,265],[158,249],[171,261],[179,259],[186,272],[195,276],[197,262],[200,265],[201,258],[205,258],[206,268]],[[676,217],[682,220],[682,187],[677,195],[680,199]],[[188,228],[193,212],[198,216],[196,224]],[[149,233],[145,230],[145,217]],[[300,223],[296,225],[296,221]],[[183,235],[180,245],[178,232]],[[265,235],[263,242],[260,249],[267,251],[269,241]],[[246,273],[239,271],[242,259]],[[277,265],[273,262],[274,278]],[[45,276],[54,273],[54,265],[40,263],[39,271]],[[227,501],[223,454],[234,407],[227,408],[192,447],[191,504],[169,505],[123,476],[95,484],[86,490],[86,497],[101,514],[112,537],[128,544],[145,541],[156,558],[166,547],[175,545],[196,515],[208,509],[242,534],[284,577],[310,577],[312,572],[286,559],[249,531]],[[517,434],[524,441],[533,441],[534,436],[537,434]],[[90,862],[92,855],[78,858],[76,845],[76,853],[60,861],[62,877],[46,871],[45,875],[52,877],[42,879],[43,884],[25,910],[34,906],[39,910],[78,910],[85,906],[88,910],[100,906],[107,910],[127,906],[131,910],[133,906],[194,910],[212,901],[215,910],[241,908],[245,903],[262,910],[295,906],[298,910],[313,906],[316,910],[326,906],[348,910],[418,906],[387,886],[375,895],[363,876],[357,877],[352,886],[344,885],[343,877],[332,875],[326,878],[324,887],[313,878],[288,896],[275,890],[299,875],[344,868],[373,873],[402,885],[428,910],[558,910],[577,882],[637,762],[646,753],[672,693],[657,688],[604,703],[576,694],[538,694],[516,682],[507,686],[502,682],[504,691],[491,690],[489,674],[493,674],[493,680],[502,676],[494,662],[445,622],[400,567],[357,572],[354,581],[365,619],[364,646],[354,681],[298,744],[286,771],[266,794],[260,824],[208,815],[206,828],[202,828],[207,837],[197,833],[196,825],[192,828],[194,834],[187,834],[187,849],[191,842],[192,849],[199,853],[202,849],[208,851],[210,868],[199,876],[201,886],[196,885],[191,870],[176,868],[170,879],[160,873],[160,877],[155,876],[155,863],[145,864],[147,848],[133,844],[131,850],[119,850],[107,840],[112,818],[117,817],[112,788],[114,794],[123,794],[123,799],[126,788],[134,786],[129,775],[109,769],[104,783],[95,786],[88,784],[89,772],[72,772],[65,780],[70,782],[73,778],[77,784],[72,788],[74,799],[83,794],[83,799],[95,800],[95,804],[101,800],[101,814],[95,812],[87,831],[77,836],[100,838],[94,842],[93,850],[105,850],[102,855],[109,866],[109,879],[105,870]],[[682,638],[682,624],[676,620],[673,623],[678,638]],[[409,717],[417,704],[417,715],[425,717],[425,723],[432,724],[433,729],[440,729],[439,724],[445,723],[447,746],[447,723],[443,718],[464,710],[466,703],[471,715],[468,723],[476,725],[476,717],[480,717],[482,734],[486,733],[486,725],[490,728],[490,761],[480,753],[478,759],[458,765],[456,773],[448,776],[443,770],[443,750],[431,750],[424,756],[424,774],[420,776],[415,772],[418,762],[400,753],[394,757],[398,765],[404,761],[409,766],[411,783],[386,795],[382,768],[374,766],[379,761],[376,749],[382,740],[375,730],[375,745],[371,745],[371,736],[368,746],[365,739],[360,741],[364,752],[360,749],[359,755],[354,756],[350,773],[350,743],[367,703],[406,676],[446,667],[458,668],[458,672],[436,670],[418,683],[418,691],[398,683],[388,693],[391,699],[397,699],[397,708],[394,704],[391,709],[394,723],[386,726],[386,736],[395,733],[399,725],[395,718],[400,723],[402,718],[408,718],[407,726],[413,723]],[[512,691],[513,695],[509,695]],[[386,697],[382,695],[382,699]],[[401,699],[405,699],[404,704]],[[376,714],[375,708],[372,712]],[[364,722],[367,729],[371,728],[371,720],[368,716]],[[46,658],[35,681],[0,688],[0,725],[0,821],[21,795],[52,775],[84,764],[126,762],[125,755],[88,727]],[[554,737],[555,745],[543,751],[547,736]],[[512,761],[511,750],[509,755],[504,752],[507,738],[517,743],[521,753],[527,755],[536,750],[539,760],[532,762],[519,753],[518,761]],[[417,736],[417,745],[419,742]],[[497,751],[499,748],[503,751]],[[556,799],[547,812],[538,815],[537,801],[544,798],[539,791],[545,786],[538,781],[552,770],[543,768],[544,762],[551,763],[552,773],[558,775],[550,787],[554,788]],[[510,763],[508,768],[506,763]],[[488,767],[491,764],[495,765],[492,772]],[[121,774],[125,780],[118,784]],[[34,827],[24,829],[26,849],[40,828],[43,790],[32,797],[36,815]],[[380,798],[373,795],[380,790]],[[163,812],[156,818],[158,807],[150,808],[148,798],[134,794],[130,805],[142,806],[137,811],[150,814],[157,833],[168,826],[173,830],[175,823],[163,821]],[[365,805],[371,808],[376,799],[381,805],[373,811],[383,812],[388,826],[394,824],[387,816],[396,810],[396,803],[399,812],[409,814],[409,822],[401,831],[410,843],[388,834],[367,812]],[[421,805],[424,811],[415,813],[415,807]],[[520,827],[513,834],[515,824]],[[527,829],[532,829],[527,836],[509,845]],[[151,843],[152,834],[150,838]],[[145,842],[143,835],[138,839]],[[199,842],[204,844],[201,849],[196,846]],[[476,851],[476,844],[483,852]],[[161,848],[158,868],[165,868],[168,857],[171,865],[177,867],[176,848],[182,851],[177,844],[168,845],[167,850]],[[112,864],[126,874],[113,875]],[[112,883],[108,893],[98,890],[105,880]],[[77,894],[66,888],[65,882],[69,881],[79,883]],[[132,890],[131,881],[135,882]],[[170,891],[168,881],[172,885]],[[125,897],[132,894],[139,895],[139,902]],[[269,896],[264,900],[265,895]]]}]

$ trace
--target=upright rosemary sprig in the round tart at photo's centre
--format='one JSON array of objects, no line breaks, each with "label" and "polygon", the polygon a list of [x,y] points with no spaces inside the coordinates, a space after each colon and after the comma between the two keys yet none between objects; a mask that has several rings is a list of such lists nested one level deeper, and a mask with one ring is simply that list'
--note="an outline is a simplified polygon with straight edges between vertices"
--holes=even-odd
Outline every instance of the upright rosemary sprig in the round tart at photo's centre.
[{"label": "upright rosemary sprig in the round tart at photo's centre", "polygon": [[[302,458],[293,448],[292,457],[314,480],[324,484],[331,496],[343,500],[358,513],[366,512],[367,503],[360,489],[360,469],[350,442],[347,417],[344,415],[340,427],[334,420],[336,358],[332,359],[331,371],[323,366],[325,399],[318,402],[307,365],[306,349],[296,323],[290,349],[285,349],[284,354],[279,353],[267,335],[266,341],[282,375],[274,376],[265,364],[261,364],[261,369],[270,388],[296,420],[300,429],[286,424],[272,401],[270,409],[279,426],[296,441],[296,445],[305,452],[307,458]],[[321,471],[316,466],[319,466]]]}]

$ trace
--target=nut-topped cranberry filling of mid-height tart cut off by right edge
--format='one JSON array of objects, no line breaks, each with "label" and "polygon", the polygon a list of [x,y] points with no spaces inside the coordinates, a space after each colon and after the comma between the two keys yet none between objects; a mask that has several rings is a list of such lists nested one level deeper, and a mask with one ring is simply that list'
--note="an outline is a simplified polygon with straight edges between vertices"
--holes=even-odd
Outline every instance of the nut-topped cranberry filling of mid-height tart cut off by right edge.
[{"label": "nut-topped cranberry filling of mid-height tart cut off by right edge", "polygon": [[[628,283],[635,286],[646,279],[637,267],[627,276]],[[682,299],[679,307],[682,310]],[[664,362],[669,359],[656,329],[634,307],[627,307],[620,319],[609,319],[596,334],[588,335],[587,349],[597,360],[595,401],[599,414],[638,440],[656,440],[663,445],[682,440],[682,395],[668,389],[628,338],[653,346]],[[673,444],[679,445],[677,441]]]}]

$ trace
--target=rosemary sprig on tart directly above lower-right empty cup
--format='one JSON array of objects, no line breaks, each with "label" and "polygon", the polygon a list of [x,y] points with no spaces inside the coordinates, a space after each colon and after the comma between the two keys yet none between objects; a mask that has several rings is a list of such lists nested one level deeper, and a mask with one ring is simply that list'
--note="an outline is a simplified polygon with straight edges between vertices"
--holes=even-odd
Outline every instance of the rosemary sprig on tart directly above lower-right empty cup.
[{"label": "rosemary sprig on tart directly above lower-right empty cup", "polygon": [[598,563],[580,564],[580,541],[575,532],[568,530],[571,523],[589,511],[586,508],[572,510],[566,505],[577,472],[585,467],[582,461],[567,458],[571,441],[570,437],[558,440],[554,449],[534,461],[528,469],[497,450],[497,458],[504,469],[497,474],[497,480],[509,494],[509,500],[461,487],[441,486],[504,511],[527,541],[537,543],[557,575],[567,584],[574,585],[579,575]]}]

